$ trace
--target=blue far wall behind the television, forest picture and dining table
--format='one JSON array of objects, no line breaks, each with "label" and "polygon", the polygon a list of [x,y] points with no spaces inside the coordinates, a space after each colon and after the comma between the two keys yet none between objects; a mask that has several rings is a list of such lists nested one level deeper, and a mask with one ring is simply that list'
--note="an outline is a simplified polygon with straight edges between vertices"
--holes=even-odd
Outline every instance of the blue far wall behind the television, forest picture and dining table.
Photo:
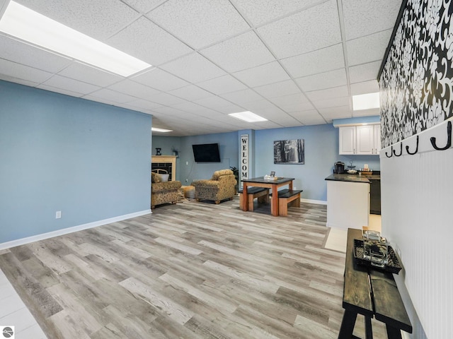
[{"label": "blue far wall behind the television, forest picture and dining table", "polygon": [[[379,170],[377,155],[338,155],[338,129],[331,124],[316,126],[298,126],[285,129],[266,129],[254,131],[253,172],[251,177],[260,177],[275,171],[277,177],[294,177],[294,186],[304,190],[302,198],[318,201],[327,200],[325,178],[333,172],[333,164],[337,161],[345,165],[356,166],[357,169],[367,164],[369,168]],[[187,136],[180,138],[180,157],[177,163],[177,179],[183,184],[190,184],[193,179],[210,178],[217,169],[239,167],[239,136],[241,131],[234,133],[209,134],[205,136]],[[273,157],[274,141],[286,139],[304,139],[304,165],[275,165]],[[171,155],[171,145],[176,145],[176,138],[153,136],[153,150],[161,147],[163,155]],[[193,143],[219,143],[222,162],[203,164],[193,161]],[[166,153],[164,153],[164,151]],[[185,165],[188,162],[188,165]],[[188,182],[185,182],[188,179]]]}]

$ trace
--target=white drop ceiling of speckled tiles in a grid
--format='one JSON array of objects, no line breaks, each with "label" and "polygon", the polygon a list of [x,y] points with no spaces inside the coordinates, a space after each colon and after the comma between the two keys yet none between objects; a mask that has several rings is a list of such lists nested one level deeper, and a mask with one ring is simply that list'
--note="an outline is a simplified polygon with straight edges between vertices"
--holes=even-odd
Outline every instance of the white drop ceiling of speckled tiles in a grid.
[{"label": "white drop ceiling of speckled tiles in a grid", "polygon": [[[167,136],[328,124],[379,91],[400,0],[16,0],[153,65],[127,78],[0,33],[0,79],[152,114]],[[0,0],[1,5],[6,0]],[[246,123],[229,113],[268,119]]]}]

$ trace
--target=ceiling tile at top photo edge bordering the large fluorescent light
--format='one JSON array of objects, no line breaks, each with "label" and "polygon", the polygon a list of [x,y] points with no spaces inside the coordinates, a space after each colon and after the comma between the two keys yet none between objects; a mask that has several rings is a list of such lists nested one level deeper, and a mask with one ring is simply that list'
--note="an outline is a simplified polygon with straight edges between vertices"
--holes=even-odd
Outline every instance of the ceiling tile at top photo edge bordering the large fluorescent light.
[{"label": "ceiling tile at top photo edge bordering the large fluorescent light", "polygon": [[139,16],[137,11],[120,0],[21,0],[19,2],[33,11],[98,40],[105,40]]}]

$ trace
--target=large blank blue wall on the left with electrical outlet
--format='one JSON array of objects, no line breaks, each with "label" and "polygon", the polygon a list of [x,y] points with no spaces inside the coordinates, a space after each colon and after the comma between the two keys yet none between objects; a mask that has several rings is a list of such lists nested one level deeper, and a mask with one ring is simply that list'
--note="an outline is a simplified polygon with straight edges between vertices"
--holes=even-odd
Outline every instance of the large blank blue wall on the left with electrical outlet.
[{"label": "large blank blue wall on the left with electrical outlet", "polygon": [[4,81],[0,102],[0,243],[149,210],[151,116]]}]

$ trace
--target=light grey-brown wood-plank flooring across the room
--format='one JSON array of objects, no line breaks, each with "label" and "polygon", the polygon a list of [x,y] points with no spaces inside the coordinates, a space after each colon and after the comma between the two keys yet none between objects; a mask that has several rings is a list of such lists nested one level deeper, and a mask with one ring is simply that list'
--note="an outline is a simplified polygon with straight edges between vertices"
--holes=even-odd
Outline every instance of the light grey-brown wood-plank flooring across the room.
[{"label": "light grey-brown wood-plank flooring across the room", "polygon": [[327,230],[322,205],[188,201],[2,251],[0,268],[48,338],[337,338],[345,255]]}]

